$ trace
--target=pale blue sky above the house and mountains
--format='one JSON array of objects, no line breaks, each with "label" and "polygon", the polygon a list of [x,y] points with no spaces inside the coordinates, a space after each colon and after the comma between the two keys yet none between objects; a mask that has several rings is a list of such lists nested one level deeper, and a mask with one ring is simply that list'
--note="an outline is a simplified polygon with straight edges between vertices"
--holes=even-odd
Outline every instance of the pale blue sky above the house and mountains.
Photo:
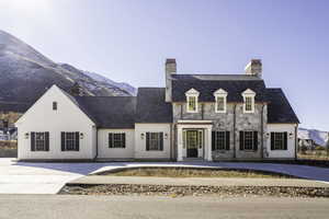
[{"label": "pale blue sky above the house and mountains", "polygon": [[1,0],[0,28],[50,59],[134,87],[180,72],[243,73],[263,61],[303,127],[329,130],[329,1]]}]

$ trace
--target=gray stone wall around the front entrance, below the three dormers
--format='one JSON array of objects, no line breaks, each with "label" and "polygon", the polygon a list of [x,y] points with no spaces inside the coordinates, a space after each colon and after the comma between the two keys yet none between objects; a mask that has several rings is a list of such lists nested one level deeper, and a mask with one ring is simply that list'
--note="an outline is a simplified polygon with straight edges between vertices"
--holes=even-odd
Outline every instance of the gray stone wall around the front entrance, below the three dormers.
[{"label": "gray stone wall around the front entrance, below the three dormers", "polygon": [[[234,138],[234,108],[236,105],[236,143]],[[226,113],[215,113],[215,103],[198,103],[198,113],[188,113],[186,103],[173,103],[173,123],[179,119],[195,119],[195,120],[213,120],[213,130],[230,131],[230,150],[213,151],[214,160],[230,160],[235,159],[261,159],[261,112],[263,104],[256,103],[254,113],[243,114],[243,104],[227,104]],[[265,148],[264,134],[266,132],[268,124],[268,106],[263,107],[263,148]],[[258,150],[257,151],[240,151],[239,150],[239,131],[253,130],[258,131]],[[174,143],[177,148],[177,141]],[[236,153],[234,151],[236,146]],[[264,149],[263,149],[264,150]]]}]

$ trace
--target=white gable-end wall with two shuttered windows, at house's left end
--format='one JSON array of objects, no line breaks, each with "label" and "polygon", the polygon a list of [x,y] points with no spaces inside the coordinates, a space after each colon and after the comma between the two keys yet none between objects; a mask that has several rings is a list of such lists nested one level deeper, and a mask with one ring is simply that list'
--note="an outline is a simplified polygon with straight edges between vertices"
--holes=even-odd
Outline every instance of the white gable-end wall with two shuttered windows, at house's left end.
[{"label": "white gable-end wall with two shuttered windows, at house's left end", "polygon": [[[57,102],[57,111],[53,111]],[[93,159],[95,155],[93,122],[59,90],[52,87],[15,124],[19,130],[19,154],[29,159]],[[49,151],[31,151],[31,131],[49,131]],[[79,151],[61,151],[60,131],[83,132]],[[26,139],[25,132],[30,136]]]}]

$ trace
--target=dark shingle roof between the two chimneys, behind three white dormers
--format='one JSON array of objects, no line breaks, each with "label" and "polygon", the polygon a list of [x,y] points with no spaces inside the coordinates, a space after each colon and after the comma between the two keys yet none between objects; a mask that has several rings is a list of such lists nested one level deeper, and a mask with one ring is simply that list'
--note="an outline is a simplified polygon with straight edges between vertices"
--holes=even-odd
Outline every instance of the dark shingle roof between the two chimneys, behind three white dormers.
[{"label": "dark shingle roof between the two chimneys, behind three white dormers", "polygon": [[242,92],[251,89],[257,102],[266,102],[265,83],[262,79],[246,74],[171,74],[172,101],[185,102],[185,92],[195,89],[200,92],[198,101],[215,102],[214,92],[225,90],[227,102],[242,102]]}]

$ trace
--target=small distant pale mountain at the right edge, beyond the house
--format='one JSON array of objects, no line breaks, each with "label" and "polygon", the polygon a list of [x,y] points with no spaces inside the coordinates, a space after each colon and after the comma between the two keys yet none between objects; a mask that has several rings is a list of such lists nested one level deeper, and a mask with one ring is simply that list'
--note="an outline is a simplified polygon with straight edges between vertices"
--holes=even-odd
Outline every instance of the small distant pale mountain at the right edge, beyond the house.
[{"label": "small distant pale mountain at the right edge, beyond the house", "polygon": [[321,131],[317,129],[298,128],[298,138],[313,139],[318,146],[327,146],[328,131]]}]

